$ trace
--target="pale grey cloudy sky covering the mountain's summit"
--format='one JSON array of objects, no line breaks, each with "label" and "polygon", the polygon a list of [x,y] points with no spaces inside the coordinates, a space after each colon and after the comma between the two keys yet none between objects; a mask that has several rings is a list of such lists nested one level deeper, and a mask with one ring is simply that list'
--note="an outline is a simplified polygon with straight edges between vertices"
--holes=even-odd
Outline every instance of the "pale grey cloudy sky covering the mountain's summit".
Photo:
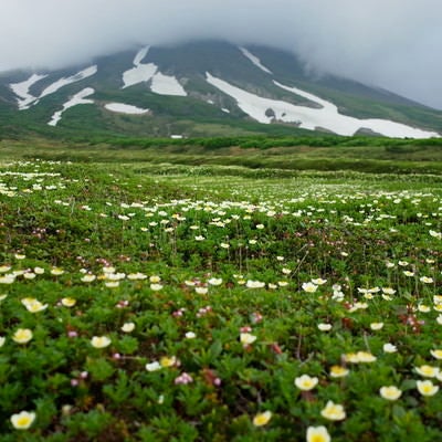
[{"label": "pale grey cloudy sky covering the mountain's summit", "polygon": [[[0,71],[219,38],[442,109],[442,0],[0,0]],[[271,67],[271,66],[270,66]]]}]

